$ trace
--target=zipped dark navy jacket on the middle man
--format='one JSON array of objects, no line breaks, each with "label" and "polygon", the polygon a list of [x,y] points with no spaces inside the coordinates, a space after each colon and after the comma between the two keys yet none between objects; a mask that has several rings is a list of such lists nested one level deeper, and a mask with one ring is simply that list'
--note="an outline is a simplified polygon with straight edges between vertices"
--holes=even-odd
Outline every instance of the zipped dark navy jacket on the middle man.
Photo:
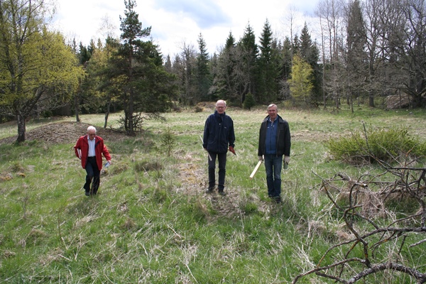
[{"label": "zipped dark navy jacket on the middle man", "polygon": [[202,146],[209,152],[226,153],[228,146],[234,147],[234,121],[226,114],[210,114],[204,125]]}]

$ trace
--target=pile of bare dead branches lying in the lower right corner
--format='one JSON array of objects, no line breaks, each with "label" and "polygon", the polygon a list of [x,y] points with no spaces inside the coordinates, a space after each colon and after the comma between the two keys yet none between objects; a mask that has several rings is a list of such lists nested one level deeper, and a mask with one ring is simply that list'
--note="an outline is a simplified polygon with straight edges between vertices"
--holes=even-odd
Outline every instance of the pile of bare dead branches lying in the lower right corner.
[{"label": "pile of bare dead branches lying in the lower right corner", "polygon": [[[337,173],[322,178],[320,190],[332,202],[332,210],[339,212],[350,238],[329,247],[316,266],[297,275],[293,283],[313,273],[356,283],[385,272],[393,283],[403,275],[426,283],[425,263],[412,257],[423,254],[419,245],[426,242],[426,168],[387,167],[382,175],[358,179]],[[402,200],[406,208],[400,212],[386,206]]]}]

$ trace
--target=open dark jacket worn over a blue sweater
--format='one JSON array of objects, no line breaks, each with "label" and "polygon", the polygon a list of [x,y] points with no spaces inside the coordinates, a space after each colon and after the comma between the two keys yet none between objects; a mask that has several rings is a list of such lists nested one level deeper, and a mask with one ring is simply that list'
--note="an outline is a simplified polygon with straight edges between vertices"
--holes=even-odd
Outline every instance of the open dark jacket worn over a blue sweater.
[{"label": "open dark jacket worn over a blue sweater", "polygon": [[[269,116],[266,116],[263,119],[261,124],[261,130],[259,131],[259,144],[258,144],[258,155],[265,155],[266,153],[266,130],[268,127]],[[276,146],[276,155],[288,155],[290,156],[290,127],[288,122],[285,121],[281,116],[277,116],[278,119],[278,131],[277,131],[277,141]]]}]

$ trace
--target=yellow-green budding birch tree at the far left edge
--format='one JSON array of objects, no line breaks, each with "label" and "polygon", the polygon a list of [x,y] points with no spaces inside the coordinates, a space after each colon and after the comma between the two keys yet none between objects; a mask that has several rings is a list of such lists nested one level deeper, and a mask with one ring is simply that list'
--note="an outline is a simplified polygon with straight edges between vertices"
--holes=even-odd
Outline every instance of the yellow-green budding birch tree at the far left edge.
[{"label": "yellow-green budding birch tree at the far left edge", "polygon": [[25,141],[26,119],[61,107],[83,72],[72,48],[46,27],[43,0],[0,1],[0,114],[14,116]]}]

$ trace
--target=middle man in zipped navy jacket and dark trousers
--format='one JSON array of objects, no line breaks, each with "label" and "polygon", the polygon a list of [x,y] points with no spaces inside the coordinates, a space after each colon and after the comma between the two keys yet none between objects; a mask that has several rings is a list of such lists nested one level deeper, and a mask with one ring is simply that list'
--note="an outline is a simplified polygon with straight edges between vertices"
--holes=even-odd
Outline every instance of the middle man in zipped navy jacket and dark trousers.
[{"label": "middle man in zipped navy jacket and dark trousers", "polygon": [[226,152],[234,152],[234,121],[225,114],[226,102],[219,99],[216,102],[216,111],[207,117],[204,125],[204,138],[202,147],[209,152],[209,187],[207,192],[214,190],[216,178],[216,158],[219,162],[219,180],[217,189],[219,195],[225,195],[225,173],[226,173]]}]

